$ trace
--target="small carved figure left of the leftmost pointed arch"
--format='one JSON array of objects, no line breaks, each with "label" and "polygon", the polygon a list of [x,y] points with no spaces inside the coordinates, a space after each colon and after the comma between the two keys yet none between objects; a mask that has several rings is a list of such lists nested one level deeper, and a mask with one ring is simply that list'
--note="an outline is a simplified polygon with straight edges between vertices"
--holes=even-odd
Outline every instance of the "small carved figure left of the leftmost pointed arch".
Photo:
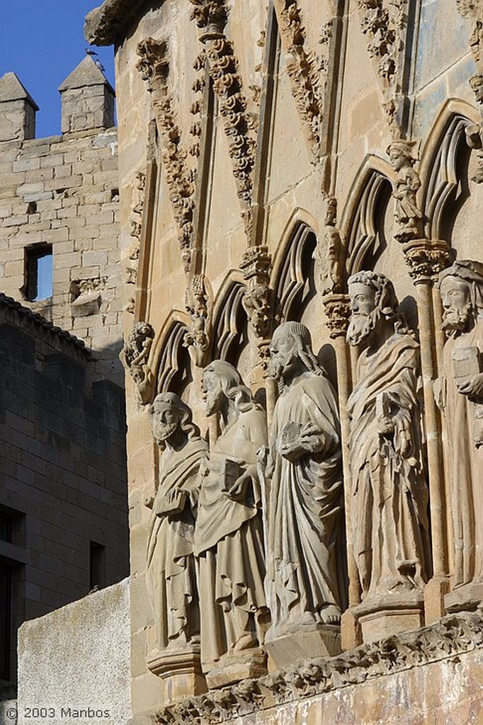
[{"label": "small carved figure left of the leftmost pointed arch", "polygon": [[148,322],[138,322],[128,335],[120,360],[133,378],[136,398],[146,405],[152,394],[153,375],[149,368],[149,352],[154,339],[154,329]]}]

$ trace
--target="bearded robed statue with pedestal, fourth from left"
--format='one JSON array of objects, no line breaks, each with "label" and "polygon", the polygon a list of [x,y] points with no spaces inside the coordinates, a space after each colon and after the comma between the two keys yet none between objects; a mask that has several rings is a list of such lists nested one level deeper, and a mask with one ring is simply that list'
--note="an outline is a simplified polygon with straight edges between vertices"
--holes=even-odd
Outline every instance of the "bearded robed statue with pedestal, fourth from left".
[{"label": "bearded robed statue with pedestal, fourth from left", "polygon": [[[363,597],[355,615],[368,641],[421,625],[429,575],[428,493],[421,456],[419,345],[387,277],[363,271],[348,283],[347,340],[364,348],[347,409],[352,538]],[[379,622],[365,621],[378,611]]]}]

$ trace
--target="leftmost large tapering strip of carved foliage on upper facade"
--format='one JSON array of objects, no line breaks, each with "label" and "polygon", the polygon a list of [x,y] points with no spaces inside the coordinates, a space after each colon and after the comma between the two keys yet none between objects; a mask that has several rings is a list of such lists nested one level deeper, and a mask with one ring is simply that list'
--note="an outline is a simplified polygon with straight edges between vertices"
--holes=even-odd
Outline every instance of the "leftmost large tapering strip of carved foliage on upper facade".
[{"label": "leftmost large tapering strip of carved foliage on upper facade", "polygon": [[181,130],[173,110],[174,99],[168,86],[169,54],[166,41],[146,38],[137,48],[141,60],[137,68],[152,94],[156,115],[162,161],[170,189],[170,202],[178,225],[178,239],[185,270],[189,268],[191,236],[193,233],[193,195],[196,173],[186,162]]}]

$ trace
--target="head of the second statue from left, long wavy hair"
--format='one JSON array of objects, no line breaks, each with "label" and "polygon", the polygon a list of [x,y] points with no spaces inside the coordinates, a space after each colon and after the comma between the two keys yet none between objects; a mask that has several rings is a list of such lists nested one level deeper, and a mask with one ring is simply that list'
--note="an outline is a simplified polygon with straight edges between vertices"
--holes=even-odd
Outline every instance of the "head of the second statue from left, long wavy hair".
[{"label": "head of the second statue from left, long wavy hair", "polygon": [[213,360],[203,370],[202,394],[207,415],[220,413],[226,401],[232,402],[239,413],[257,405],[238,370],[226,360]]}]

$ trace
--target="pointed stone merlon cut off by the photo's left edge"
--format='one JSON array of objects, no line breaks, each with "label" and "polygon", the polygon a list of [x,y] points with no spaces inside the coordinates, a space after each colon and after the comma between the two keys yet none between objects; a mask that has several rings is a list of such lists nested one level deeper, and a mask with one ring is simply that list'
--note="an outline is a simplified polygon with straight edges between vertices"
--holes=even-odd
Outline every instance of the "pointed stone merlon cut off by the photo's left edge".
[{"label": "pointed stone merlon cut off by the photo's left edge", "polygon": [[0,141],[25,141],[36,136],[38,105],[15,73],[0,78]]}]

